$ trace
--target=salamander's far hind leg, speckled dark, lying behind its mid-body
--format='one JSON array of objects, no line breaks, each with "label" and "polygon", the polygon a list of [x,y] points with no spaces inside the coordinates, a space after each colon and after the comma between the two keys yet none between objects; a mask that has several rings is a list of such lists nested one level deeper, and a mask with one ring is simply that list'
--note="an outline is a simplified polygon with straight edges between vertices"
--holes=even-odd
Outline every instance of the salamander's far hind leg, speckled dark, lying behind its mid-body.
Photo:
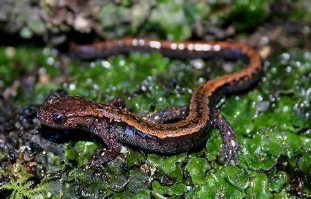
[{"label": "salamander's far hind leg, speckled dark, lying behind its mid-body", "polygon": [[168,110],[153,112],[147,115],[147,120],[155,123],[169,123],[174,120],[182,120],[187,117],[189,113],[189,106],[174,107]]}]

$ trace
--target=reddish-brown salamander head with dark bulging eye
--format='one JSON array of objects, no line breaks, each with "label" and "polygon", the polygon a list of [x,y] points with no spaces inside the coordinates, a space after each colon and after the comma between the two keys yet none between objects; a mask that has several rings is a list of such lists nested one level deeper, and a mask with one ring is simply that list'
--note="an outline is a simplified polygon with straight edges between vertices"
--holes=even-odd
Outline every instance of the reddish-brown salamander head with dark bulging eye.
[{"label": "reddish-brown salamander head with dark bulging eye", "polygon": [[39,108],[37,117],[42,124],[57,129],[75,129],[85,126],[96,116],[95,102],[81,97],[50,95]]}]

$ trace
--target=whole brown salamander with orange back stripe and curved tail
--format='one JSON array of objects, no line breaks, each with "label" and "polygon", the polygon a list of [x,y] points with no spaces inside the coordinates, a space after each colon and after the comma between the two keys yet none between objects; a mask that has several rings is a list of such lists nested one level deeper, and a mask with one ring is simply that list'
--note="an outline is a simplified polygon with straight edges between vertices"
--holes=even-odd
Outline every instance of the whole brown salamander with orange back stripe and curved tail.
[{"label": "whole brown salamander with orange back stripe and curved tail", "polygon": [[214,127],[223,137],[224,164],[238,164],[236,133],[217,110],[216,104],[223,95],[241,91],[258,81],[262,70],[258,53],[245,44],[229,41],[173,42],[125,38],[71,46],[71,53],[81,59],[131,51],[157,51],[179,59],[241,59],[246,66],[237,73],[216,77],[200,85],[192,93],[189,106],[151,113],[147,118],[127,111],[122,98],[100,104],[83,97],[50,95],[37,112],[41,123],[57,129],[84,129],[102,138],[108,149],[93,160],[91,166],[100,167],[113,160],[124,143],[156,153],[189,151],[206,143],[209,131]]}]

